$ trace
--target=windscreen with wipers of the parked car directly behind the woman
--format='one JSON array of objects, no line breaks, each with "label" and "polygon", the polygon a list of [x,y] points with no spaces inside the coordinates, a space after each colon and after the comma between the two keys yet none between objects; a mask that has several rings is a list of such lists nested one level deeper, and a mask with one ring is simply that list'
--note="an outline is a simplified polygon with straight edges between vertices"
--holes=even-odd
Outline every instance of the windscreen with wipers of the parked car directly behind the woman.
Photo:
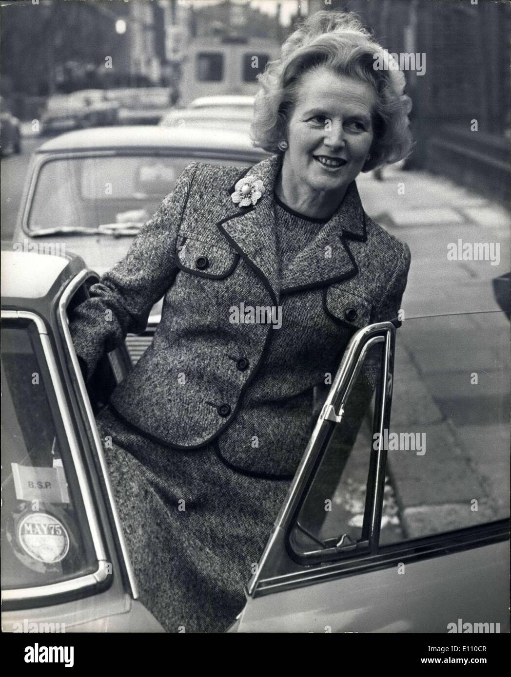
[{"label": "windscreen with wipers of the parked car directly behind the woman", "polygon": [[217,158],[122,154],[66,157],[45,162],[28,207],[28,230],[70,227],[95,230],[112,223],[143,225],[173,191],[193,161],[249,167]]}]

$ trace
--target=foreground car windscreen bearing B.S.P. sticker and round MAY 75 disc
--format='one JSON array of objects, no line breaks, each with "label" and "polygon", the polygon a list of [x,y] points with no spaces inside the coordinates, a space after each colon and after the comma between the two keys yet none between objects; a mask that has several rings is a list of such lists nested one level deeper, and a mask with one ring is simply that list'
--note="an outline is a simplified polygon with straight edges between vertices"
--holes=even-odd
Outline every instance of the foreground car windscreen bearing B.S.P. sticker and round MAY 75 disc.
[{"label": "foreground car windscreen bearing B.S.P. sticker and round MAY 75 disc", "polygon": [[98,568],[35,322],[2,320],[1,586],[37,588]]}]

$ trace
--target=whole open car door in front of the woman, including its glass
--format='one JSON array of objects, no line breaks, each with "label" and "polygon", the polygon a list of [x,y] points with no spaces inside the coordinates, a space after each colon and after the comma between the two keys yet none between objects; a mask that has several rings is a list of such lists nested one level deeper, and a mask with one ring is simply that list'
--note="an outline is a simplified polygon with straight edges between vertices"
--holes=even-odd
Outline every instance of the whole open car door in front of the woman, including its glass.
[{"label": "whole open car door in front of the woman, including its glass", "polygon": [[354,334],[231,631],[508,632],[508,332]]}]

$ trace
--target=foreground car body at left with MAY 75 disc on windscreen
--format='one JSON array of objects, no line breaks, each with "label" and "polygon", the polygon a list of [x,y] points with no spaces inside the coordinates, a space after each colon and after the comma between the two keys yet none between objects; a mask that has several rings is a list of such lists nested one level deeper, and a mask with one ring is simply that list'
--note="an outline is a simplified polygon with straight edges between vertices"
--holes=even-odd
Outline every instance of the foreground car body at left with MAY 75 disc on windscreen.
[{"label": "foreground car body at left with MAY 75 disc on windscreen", "polygon": [[[97,278],[79,258],[8,248],[1,307],[3,630],[17,632],[18,622],[30,621],[55,622],[54,632],[161,632],[137,600],[94,423],[98,383],[87,393],[69,341],[66,313]],[[125,349],[110,353],[97,394],[128,366]]]}]

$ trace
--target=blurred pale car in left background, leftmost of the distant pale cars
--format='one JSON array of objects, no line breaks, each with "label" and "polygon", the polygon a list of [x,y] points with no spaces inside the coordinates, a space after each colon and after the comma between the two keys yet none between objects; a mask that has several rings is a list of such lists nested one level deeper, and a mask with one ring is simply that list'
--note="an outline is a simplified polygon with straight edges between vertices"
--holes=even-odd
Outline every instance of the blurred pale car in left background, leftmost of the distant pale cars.
[{"label": "blurred pale car in left background, leftmost of the distant pale cars", "polygon": [[109,101],[103,89],[83,89],[70,94],[55,94],[47,100],[41,117],[41,134],[62,133],[116,125],[119,104]]}]

